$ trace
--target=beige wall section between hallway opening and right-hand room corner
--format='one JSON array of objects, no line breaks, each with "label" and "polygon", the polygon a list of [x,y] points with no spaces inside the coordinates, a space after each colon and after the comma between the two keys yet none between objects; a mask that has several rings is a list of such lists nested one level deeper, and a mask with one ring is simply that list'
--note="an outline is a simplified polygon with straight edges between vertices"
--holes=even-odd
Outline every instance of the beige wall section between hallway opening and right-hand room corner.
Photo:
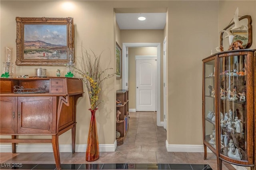
[{"label": "beige wall section between hallway opening and right-hand room corner", "polygon": [[218,46],[217,11],[218,1],[169,1],[169,144],[202,144],[202,59]]}]

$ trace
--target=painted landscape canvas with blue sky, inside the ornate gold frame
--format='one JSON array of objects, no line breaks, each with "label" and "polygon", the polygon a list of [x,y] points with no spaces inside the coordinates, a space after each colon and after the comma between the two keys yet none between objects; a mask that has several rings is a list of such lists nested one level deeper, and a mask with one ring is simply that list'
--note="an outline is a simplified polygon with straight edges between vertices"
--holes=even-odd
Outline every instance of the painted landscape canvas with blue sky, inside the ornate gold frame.
[{"label": "painted landscape canvas with blue sky, inside the ornate gold frame", "polygon": [[24,59],[67,60],[67,26],[24,25]]}]

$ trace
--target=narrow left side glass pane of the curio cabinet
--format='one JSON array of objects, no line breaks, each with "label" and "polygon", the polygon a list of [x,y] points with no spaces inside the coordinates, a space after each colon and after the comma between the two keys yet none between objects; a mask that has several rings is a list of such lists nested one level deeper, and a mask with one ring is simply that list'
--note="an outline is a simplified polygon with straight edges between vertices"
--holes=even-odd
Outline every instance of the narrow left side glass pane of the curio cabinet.
[{"label": "narrow left side glass pane of the curio cabinet", "polygon": [[[211,60],[212,59],[212,60]],[[204,141],[216,153],[215,133],[215,56],[204,62]]]}]

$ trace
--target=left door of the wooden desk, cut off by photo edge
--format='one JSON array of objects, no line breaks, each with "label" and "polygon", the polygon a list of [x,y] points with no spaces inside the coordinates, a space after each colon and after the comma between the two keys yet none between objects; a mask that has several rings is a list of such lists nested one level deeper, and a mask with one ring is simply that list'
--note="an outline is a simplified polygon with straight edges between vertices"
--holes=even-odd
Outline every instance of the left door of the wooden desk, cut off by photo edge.
[{"label": "left door of the wooden desk, cut off by photo edge", "polygon": [[0,132],[17,132],[17,97],[1,97]]}]

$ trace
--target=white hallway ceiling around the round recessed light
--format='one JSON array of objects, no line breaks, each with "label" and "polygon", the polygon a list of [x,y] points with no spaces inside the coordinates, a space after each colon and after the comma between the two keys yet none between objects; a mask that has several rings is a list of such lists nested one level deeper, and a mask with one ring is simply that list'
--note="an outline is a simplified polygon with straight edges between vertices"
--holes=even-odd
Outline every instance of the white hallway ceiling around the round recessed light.
[{"label": "white hallway ceiling around the round recessed light", "polygon": [[[146,20],[138,20],[140,16]],[[120,30],[163,30],[166,13],[116,13],[116,22]]]}]

